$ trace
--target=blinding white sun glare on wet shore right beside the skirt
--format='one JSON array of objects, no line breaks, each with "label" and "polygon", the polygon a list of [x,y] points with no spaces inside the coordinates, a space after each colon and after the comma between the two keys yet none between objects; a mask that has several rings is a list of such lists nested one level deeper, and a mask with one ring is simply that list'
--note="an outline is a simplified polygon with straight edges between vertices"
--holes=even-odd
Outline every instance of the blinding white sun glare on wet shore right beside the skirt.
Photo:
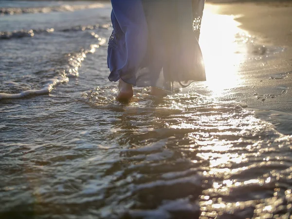
[{"label": "blinding white sun glare on wet shore right beside the skirt", "polygon": [[247,33],[238,28],[234,16],[219,15],[218,9],[206,5],[200,37],[207,76],[204,84],[215,96],[242,84],[238,71],[247,52],[242,39]]}]

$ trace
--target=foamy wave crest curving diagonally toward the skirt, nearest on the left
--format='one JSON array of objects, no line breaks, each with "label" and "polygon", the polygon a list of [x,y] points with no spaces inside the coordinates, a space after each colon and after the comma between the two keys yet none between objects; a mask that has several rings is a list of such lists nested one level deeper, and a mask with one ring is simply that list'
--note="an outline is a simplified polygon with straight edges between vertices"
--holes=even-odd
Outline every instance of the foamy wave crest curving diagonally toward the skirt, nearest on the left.
[{"label": "foamy wave crest curving diagonally toward the skirt, nearest on the left", "polygon": [[89,49],[81,49],[77,53],[66,54],[64,56],[63,65],[55,69],[56,77],[51,78],[47,81],[42,81],[44,86],[41,89],[36,90],[26,90],[18,93],[4,93],[0,92],[0,100],[2,99],[18,99],[33,95],[43,95],[50,93],[57,85],[66,83],[69,81],[70,77],[78,77],[78,69],[81,66],[82,61],[86,58],[87,54],[95,53],[96,49],[100,45],[103,45],[106,40],[98,37],[98,44],[91,44]]}]

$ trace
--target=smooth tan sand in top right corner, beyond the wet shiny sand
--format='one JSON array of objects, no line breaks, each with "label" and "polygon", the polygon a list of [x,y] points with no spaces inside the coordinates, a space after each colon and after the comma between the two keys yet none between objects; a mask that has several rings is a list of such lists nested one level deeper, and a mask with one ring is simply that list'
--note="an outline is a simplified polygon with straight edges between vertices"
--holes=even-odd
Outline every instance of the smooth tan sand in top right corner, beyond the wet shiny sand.
[{"label": "smooth tan sand in top right corner, beyond the wet shiny sand", "polygon": [[256,2],[220,4],[219,14],[242,15],[242,29],[263,37],[268,43],[292,46],[292,2]]}]

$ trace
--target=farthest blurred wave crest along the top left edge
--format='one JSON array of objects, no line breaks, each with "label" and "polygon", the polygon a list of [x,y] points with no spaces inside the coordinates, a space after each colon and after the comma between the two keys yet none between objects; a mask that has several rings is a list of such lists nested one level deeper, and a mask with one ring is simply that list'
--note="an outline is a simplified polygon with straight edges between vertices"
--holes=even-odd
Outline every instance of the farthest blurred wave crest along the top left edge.
[{"label": "farthest blurred wave crest along the top left edge", "polygon": [[89,5],[58,5],[50,7],[32,7],[32,8],[0,8],[0,15],[17,15],[17,14],[33,14],[33,13],[51,13],[63,11],[76,11],[91,8],[101,8],[104,5],[101,3],[94,3]]}]

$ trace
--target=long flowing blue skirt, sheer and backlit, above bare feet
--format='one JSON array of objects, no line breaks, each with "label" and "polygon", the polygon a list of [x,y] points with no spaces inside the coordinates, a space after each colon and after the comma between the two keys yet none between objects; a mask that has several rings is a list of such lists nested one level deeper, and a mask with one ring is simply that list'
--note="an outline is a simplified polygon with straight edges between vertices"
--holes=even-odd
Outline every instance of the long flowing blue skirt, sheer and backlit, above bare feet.
[{"label": "long flowing blue skirt, sheer and backlit, above bare feet", "polygon": [[[196,3],[194,3],[196,2]],[[202,0],[111,0],[110,81],[173,91],[204,81]]]}]

